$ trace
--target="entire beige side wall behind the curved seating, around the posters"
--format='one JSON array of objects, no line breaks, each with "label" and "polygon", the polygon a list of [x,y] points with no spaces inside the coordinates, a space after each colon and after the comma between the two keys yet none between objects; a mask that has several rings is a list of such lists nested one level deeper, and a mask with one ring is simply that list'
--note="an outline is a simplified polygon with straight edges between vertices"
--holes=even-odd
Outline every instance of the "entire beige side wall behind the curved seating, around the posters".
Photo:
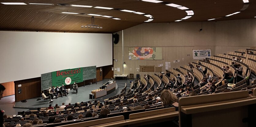
[{"label": "entire beige side wall behind the curved seating, around the posters", "polygon": [[[203,29],[199,31],[199,29]],[[163,64],[171,62],[171,68],[187,65],[193,60],[193,49],[212,49],[212,55],[238,51],[238,49],[256,46],[256,20],[243,19],[221,22],[185,22],[185,23],[143,23],[124,30],[124,62],[122,64],[122,31],[118,44],[114,44],[114,74],[154,74],[138,72],[139,65]],[[128,47],[162,47],[162,60],[128,60]],[[189,55],[189,56],[188,56]],[[182,60],[184,58],[184,60]],[[173,62],[180,60],[180,62]],[[132,69],[132,70],[130,70]],[[155,72],[159,74],[158,72]]]}]

